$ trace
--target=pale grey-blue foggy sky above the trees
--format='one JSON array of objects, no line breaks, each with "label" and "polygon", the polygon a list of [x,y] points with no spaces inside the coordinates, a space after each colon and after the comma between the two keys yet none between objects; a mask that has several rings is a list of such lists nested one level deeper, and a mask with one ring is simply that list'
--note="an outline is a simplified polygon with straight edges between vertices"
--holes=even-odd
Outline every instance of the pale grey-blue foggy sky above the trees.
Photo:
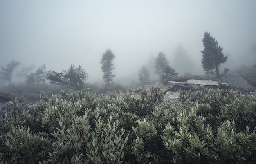
[{"label": "pale grey-blue foggy sky above the trees", "polygon": [[171,60],[182,44],[204,73],[205,31],[228,55],[223,67],[251,65],[255,7],[256,0],[1,0],[0,65],[17,60],[20,69],[46,64],[60,72],[81,64],[90,81],[101,79],[101,55],[111,49],[121,78],[159,51]]}]

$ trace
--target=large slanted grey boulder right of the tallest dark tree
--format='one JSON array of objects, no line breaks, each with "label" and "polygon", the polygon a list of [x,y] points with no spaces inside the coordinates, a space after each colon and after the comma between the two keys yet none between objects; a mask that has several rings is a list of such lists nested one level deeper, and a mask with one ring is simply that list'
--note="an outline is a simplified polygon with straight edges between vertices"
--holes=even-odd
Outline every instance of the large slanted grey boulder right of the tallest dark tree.
[{"label": "large slanted grey boulder right of the tallest dark tree", "polygon": [[231,88],[243,93],[253,91],[254,87],[249,84],[239,73],[225,74],[216,80],[230,84]]}]

